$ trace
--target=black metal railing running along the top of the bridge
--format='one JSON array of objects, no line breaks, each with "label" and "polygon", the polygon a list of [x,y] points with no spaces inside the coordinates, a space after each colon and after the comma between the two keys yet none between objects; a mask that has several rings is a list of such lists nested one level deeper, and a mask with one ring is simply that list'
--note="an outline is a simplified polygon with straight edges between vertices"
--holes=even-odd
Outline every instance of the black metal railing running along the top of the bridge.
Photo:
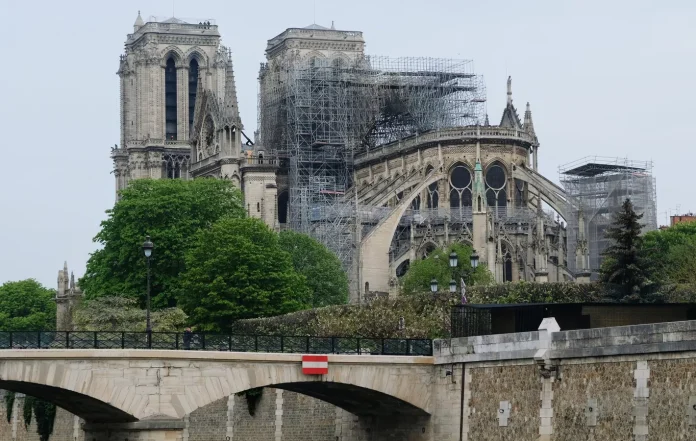
[{"label": "black metal railing running along the top of the bridge", "polygon": [[290,354],[432,355],[432,340],[179,332],[0,331],[0,349],[164,349]]}]

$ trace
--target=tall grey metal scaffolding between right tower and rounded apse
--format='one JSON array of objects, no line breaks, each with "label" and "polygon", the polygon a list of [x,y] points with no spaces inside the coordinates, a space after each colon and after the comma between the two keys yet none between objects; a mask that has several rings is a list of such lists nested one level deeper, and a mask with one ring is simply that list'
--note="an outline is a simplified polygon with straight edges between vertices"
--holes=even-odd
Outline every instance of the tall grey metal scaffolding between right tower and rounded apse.
[{"label": "tall grey metal scaffolding between right tower and rounded apse", "polygon": [[288,164],[289,226],[327,245],[351,277],[357,219],[373,212],[346,196],[354,157],[485,115],[471,61],[289,56],[262,64],[259,81],[260,143]]}]

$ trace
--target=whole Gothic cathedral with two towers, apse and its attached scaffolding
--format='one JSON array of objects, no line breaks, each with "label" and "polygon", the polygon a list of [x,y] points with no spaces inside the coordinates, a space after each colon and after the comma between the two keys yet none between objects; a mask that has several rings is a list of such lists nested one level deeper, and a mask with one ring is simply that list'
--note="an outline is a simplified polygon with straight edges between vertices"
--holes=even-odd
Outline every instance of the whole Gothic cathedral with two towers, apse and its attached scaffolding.
[{"label": "whole Gothic cathedral with two towers, apse and its attached scaffolding", "polygon": [[229,179],[249,216],[333,250],[355,302],[395,295],[411,262],[451,242],[498,282],[588,282],[582,210],[538,172],[511,79],[491,124],[469,64],[364,49],[362,32],[333,25],[269,40],[248,137],[218,27],[138,14],[118,69],[116,197],[134,179]]}]

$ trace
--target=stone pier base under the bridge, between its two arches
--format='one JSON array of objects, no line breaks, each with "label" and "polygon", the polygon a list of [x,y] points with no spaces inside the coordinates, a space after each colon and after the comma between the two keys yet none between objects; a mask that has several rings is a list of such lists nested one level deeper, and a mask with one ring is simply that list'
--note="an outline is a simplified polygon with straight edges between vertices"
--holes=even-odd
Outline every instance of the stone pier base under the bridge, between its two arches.
[{"label": "stone pier base under the bridge, between its two arches", "polygon": [[90,441],[183,441],[183,420],[150,420],[123,424],[85,424],[85,439]]}]

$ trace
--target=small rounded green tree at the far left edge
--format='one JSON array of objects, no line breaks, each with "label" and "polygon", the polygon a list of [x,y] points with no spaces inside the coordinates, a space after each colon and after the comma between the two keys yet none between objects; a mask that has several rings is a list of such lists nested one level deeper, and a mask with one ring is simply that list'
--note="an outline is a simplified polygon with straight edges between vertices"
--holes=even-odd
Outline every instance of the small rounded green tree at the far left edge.
[{"label": "small rounded green tree at the far left edge", "polygon": [[56,327],[56,294],[34,279],[0,286],[0,329],[41,331]]}]

